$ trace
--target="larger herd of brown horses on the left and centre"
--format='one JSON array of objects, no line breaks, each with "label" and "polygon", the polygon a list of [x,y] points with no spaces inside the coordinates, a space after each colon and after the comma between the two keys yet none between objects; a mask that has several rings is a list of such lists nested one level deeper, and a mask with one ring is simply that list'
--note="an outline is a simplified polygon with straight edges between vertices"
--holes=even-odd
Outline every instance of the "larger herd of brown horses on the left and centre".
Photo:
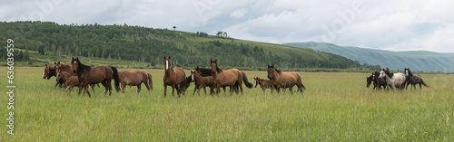
[{"label": "larger herd of brown horses on the left and centre", "polygon": [[[210,94],[217,94],[221,92],[221,89],[226,91],[226,87],[230,87],[231,95],[233,92],[237,94],[243,93],[242,84],[252,89],[253,84],[249,82],[246,74],[243,71],[238,69],[222,70],[219,68],[217,60],[211,61],[212,69],[203,69],[196,67],[194,71],[191,71],[191,75],[186,77],[182,68],[173,68],[171,57],[166,58],[164,56],[164,76],[163,76],[163,88],[164,88],[164,97],[167,94],[167,86],[172,87],[172,95],[174,96],[174,91],[177,91],[178,97],[181,97],[181,94],[184,94],[185,90],[190,87],[190,84],[193,82],[194,90],[192,95],[195,94],[195,91],[204,90],[206,94],[206,87],[210,88]],[[88,94],[91,97],[91,94],[88,90],[89,86],[94,88],[99,83],[104,86],[104,96],[109,92],[109,96],[112,95],[113,86],[111,81],[114,80],[115,90],[120,91],[129,86],[137,86],[137,94],[141,91],[142,83],[145,85],[147,90],[150,92],[153,90],[153,80],[152,75],[145,71],[117,71],[115,67],[109,66],[99,66],[99,67],[90,67],[79,61],[79,58],[73,58],[71,64],[64,64],[63,62],[54,62],[54,66],[44,67],[43,78],[49,80],[51,77],[56,78],[56,83],[54,87],[64,87],[67,95],[71,95],[71,90],[74,87],[79,88],[79,95],[82,91]],[[289,89],[293,93],[293,86],[297,86],[301,94],[302,89],[306,89],[302,85],[301,77],[298,73],[294,71],[284,72],[279,71],[274,68],[274,65],[268,66],[268,78],[269,80],[263,80],[260,78],[254,78],[255,88],[260,85],[265,91],[265,89],[280,90]],[[122,88],[120,88],[120,84]]]}]

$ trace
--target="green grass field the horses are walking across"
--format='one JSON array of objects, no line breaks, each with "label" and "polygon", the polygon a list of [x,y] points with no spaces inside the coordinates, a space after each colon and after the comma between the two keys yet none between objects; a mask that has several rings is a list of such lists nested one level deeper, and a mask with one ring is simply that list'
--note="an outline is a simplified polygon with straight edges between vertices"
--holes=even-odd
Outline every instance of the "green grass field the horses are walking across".
[{"label": "green grass field the horses are walking across", "polygon": [[[0,141],[453,141],[454,75],[422,74],[430,88],[372,91],[366,73],[299,72],[304,95],[246,89],[243,95],[163,98],[163,70],[144,87],[104,97],[67,96],[44,68],[15,69],[15,135],[7,135],[6,69],[0,75]],[[187,71],[186,74],[188,74]],[[245,71],[266,77],[264,71]],[[245,87],[244,87],[245,88]]]}]

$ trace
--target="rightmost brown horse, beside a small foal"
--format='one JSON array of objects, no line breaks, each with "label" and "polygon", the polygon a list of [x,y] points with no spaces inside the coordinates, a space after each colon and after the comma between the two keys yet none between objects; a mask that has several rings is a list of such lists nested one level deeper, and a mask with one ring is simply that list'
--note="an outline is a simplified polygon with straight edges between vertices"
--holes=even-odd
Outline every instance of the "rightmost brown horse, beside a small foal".
[{"label": "rightmost brown horse, beside a small foal", "polygon": [[[293,86],[297,86],[298,90],[302,94],[302,89],[306,90],[306,87],[301,82],[301,76],[295,71],[282,72],[274,68],[274,65],[268,65],[268,79],[272,81],[272,85],[278,90],[278,93],[281,88],[289,88],[291,94],[293,94]],[[271,88],[271,91],[273,89]],[[298,92],[297,90],[297,92]]]}]

